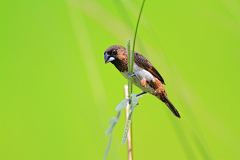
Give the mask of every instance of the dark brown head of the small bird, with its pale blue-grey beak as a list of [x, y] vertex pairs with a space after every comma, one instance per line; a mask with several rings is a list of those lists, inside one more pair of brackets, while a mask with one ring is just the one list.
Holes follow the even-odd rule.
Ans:
[[127, 58], [126, 48], [120, 45], [111, 46], [104, 52], [105, 64], [108, 62], [114, 63], [114, 61], [125, 60]]

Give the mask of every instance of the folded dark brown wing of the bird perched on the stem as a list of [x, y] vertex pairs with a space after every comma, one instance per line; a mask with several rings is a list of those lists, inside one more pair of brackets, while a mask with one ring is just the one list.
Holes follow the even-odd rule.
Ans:
[[158, 80], [165, 84], [162, 76], [158, 73], [158, 71], [153, 67], [153, 65], [140, 53], [134, 53], [134, 62], [141, 68], [150, 72], [153, 76], [155, 76]]

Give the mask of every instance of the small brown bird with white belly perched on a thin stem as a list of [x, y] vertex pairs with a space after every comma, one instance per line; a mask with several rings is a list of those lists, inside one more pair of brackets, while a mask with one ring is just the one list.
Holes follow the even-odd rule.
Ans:
[[153, 65], [140, 53], [134, 52], [133, 75], [128, 74], [128, 54], [126, 48], [120, 45], [109, 47], [104, 52], [105, 64], [111, 62], [125, 78], [132, 78], [133, 84], [145, 93], [152, 94], [164, 102], [175, 116], [180, 118], [180, 114], [169, 101], [167, 93], [163, 87], [165, 82]]

